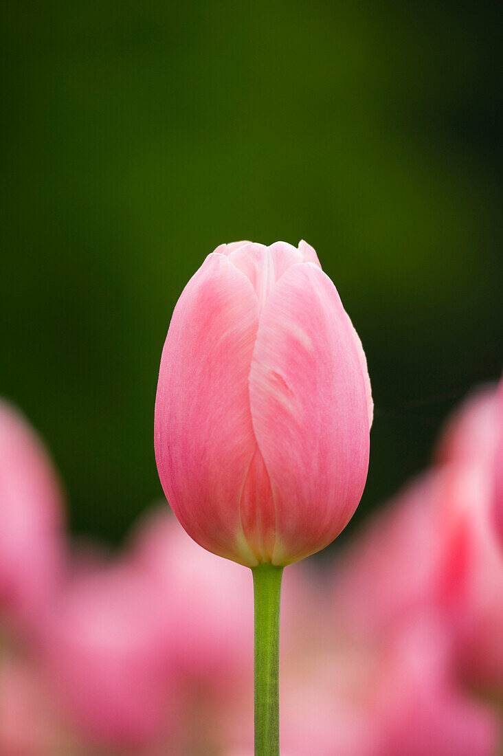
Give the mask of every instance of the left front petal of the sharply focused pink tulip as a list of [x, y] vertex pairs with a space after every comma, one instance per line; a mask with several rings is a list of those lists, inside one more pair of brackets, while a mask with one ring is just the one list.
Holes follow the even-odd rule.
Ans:
[[175, 307], [157, 386], [155, 448], [166, 497], [206, 549], [256, 564], [241, 491], [256, 450], [248, 375], [258, 323], [250, 280], [213, 254]]

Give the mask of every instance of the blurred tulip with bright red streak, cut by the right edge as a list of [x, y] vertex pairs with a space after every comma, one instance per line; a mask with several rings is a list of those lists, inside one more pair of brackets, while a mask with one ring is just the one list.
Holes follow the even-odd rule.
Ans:
[[455, 633], [458, 664], [479, 686], [503, 686], [503, 553], [492, 523], [492, 489], [480, 466], [449, 466], [439, 497], [437, 584]]

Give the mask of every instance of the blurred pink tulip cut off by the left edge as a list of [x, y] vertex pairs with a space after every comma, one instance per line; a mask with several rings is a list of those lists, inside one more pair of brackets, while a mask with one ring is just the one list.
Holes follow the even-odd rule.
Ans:
[[33, 429], [0, 402], [0, 615], [30, 624], [61, 577], [62, 496]]

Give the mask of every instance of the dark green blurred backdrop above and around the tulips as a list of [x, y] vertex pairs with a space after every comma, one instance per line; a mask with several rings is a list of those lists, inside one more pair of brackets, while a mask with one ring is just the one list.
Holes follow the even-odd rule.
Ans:
[[[223, 241], [311, 243], [368, 355], [361, 519], [501, 372], [501, 5], [8, 3], [0, 392], [119, 541], [160, 496], [175, 301]], [[352, 525], [354, 527], [354, 525]]]

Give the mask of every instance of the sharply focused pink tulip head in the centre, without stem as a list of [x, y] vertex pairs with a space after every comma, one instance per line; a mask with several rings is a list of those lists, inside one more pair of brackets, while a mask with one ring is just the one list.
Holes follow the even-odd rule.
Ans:
[[188, 534], [247, 566], [336, 538], [368, 469], [370, 382], [334, 284], [298, 249], [217, 247], [169, 326], [155, 448]]

